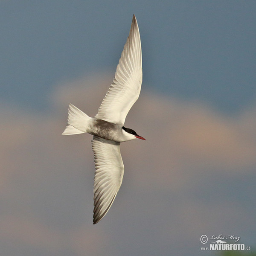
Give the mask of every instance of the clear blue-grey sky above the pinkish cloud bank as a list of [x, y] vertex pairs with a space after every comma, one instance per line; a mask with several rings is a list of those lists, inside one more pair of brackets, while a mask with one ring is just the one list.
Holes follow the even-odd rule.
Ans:
[[256, 97], [255, 1], [0, 1], [1, 101], [49, 111], [62, 81], [114, 74], [131, 17], [143, 81], [236, 113]]

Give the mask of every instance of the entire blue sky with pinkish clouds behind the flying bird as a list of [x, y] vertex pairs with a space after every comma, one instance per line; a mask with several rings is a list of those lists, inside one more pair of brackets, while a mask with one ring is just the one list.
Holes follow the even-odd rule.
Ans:
[[[256, 2], [0, 1], [0, 254], [220, 255], [255, 248]], [[125, 175], [93, 218], [91, 136], [61, 136], [71, 102], [90, 116], [132, 15], [143, 85], [122, 143]], [[209, 242], [207, 243], [209, 246]]]

